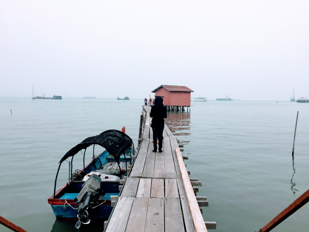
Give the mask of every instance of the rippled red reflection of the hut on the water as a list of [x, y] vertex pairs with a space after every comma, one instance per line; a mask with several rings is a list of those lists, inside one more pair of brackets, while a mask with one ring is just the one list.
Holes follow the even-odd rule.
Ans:
[[[190, 112], [167, 112], [167, 127], [179, 140], [179, 144], [188, 144], [190, 135]], [[182, 149], [182, 148], [180, 148]]]

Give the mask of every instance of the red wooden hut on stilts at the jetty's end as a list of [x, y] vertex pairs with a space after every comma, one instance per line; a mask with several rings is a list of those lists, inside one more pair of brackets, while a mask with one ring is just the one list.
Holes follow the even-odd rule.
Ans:
[[184, 110], [184, 107], [190, 106], [191, 92], [187, 86], [180, 85], [161, 85], [152, 92], [155, 96], [163, 97], [163, 104], [167, 110]]

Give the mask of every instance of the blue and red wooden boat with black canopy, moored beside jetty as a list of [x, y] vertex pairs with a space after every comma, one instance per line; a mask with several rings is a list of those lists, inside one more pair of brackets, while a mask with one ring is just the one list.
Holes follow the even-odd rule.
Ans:
[[[95, 144], [105, 149], [98, 155], [93, 152], [92, 160], [85, 165], [86, 149]], [[82, 149], [85, 149], [83, 168], [72, 173], [73, 158]], [[76, 219], [76, 228], [81, 223], [90, 223], [91, 217], [107, 219], [113, 209], [111, 197], [119, 195], [120, 179], [127, 175], [127, 165], [131, 165], [133, 152], [132, 139], [117, 130], [88, 137], [68, 151], [59, 162], [54, 193], [48, 198], [56, 218]], [[60, 166], [70, 157], [69, 181], [56, 191]]]

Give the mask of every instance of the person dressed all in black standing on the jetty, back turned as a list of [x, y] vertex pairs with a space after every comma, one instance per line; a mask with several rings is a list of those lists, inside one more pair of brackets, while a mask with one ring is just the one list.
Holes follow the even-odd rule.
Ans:
[[[162, 140], [164, 130], [164, 118], [167, 117], [166, 109], [159, 97], [155, 98], [155, 104], [152, 106], [150, 111], [150, 118], [152, 118], [152, 131], [153, 140], [159, 139], [159, 152], [162, 152]], [[157, 143], [154, 143], [153, 152], [157, 152]]]

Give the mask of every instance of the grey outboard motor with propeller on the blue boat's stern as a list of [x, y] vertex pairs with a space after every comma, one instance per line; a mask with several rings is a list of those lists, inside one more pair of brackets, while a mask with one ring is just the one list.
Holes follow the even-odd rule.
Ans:
[[92, 216], [92, 204], [95, 196], [99, 193], [101, 187], [101, 178], [92, 174], [91, 177], [83, 184], [82, 190], [79, 192], [74, 201], [79, 205], [78, 207], [78, 221], [75, 227], [78, 229], [83, 224], [89, 224]]

